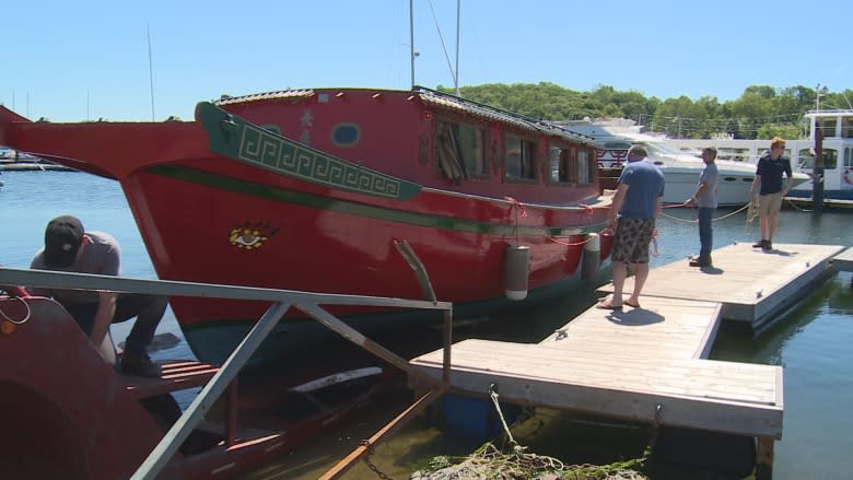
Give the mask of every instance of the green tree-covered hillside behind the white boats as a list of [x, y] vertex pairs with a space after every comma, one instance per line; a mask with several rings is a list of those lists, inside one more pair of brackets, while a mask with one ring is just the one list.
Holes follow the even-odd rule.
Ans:
[[[453, 87], [436, 90], [453, 93]], [[853, 91], [829, 92], [808, 86], [773, 87], [752, 85], [736, 99], [720, 102], [715, 96], [693, 101], [685, 95], [659, 99], [636, 91], [618, 91], [598, 85], [577, 92], [549, 82], [488, 83], [459, 87], [459, 95], [479, 103], [542, 120], [584, 118], [630, 118], [645, 131], [673, 138], [736, 139], [803, 138], [803, 114], [820, 108], [853, 108]]]

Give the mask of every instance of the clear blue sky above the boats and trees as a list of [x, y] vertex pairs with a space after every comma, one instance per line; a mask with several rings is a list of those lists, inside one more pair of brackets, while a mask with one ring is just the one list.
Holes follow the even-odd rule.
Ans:
[[[853, 89], [849, 0], [413, 0], [414, 84], [610, 85], [735, 99]], [[8, 1], [0, 103], [31, 119], [191, 119], [223, 94], [409, 89], [409, 0]], [[459, 38], [457, 60], [457, 5]]]

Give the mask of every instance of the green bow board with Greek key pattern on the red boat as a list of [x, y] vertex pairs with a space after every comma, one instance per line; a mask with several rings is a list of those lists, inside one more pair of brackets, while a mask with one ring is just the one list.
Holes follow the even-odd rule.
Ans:
[[328, 155], [304, 143], [250, 124], [209, 103], [196, 118], [210, 137], [210, 150], [280, 175], [347, 191], [407, 200], [421, 186]]

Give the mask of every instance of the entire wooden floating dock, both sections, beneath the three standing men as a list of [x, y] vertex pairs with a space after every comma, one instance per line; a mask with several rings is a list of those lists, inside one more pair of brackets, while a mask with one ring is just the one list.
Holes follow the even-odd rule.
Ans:
[[[782, 437], [782, 367], [708, 355], [723, 319], [769, 325], [834, 272], [831, 260], [843, 249], [732, 245], [713, 253], [714, 268], [687, 260], [656, 268], [640, 308], [593, 306], [535, 344], [454, 344], [451, 386], [483, 396], [495, 384], [509, 402], [757, 437], [759, 465], [769, 470]], [[629, 278], [626, 291], [632, 286]], [[411, 363], [437, 378], [442, 355]]]

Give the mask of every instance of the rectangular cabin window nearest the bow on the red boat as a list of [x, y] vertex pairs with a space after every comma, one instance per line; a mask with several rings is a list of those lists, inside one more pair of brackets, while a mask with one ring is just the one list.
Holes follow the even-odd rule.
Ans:
[[435, 157], [439, 168], [451, 180], [487, 177], [486, 131], [470, 125], [437, 122]]

